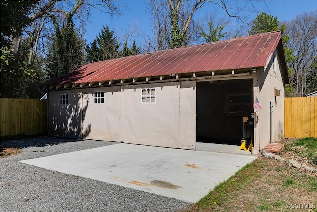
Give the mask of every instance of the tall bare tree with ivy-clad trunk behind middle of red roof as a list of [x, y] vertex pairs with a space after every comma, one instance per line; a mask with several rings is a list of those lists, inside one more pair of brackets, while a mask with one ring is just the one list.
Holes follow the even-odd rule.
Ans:
[[236, 1], [224, 0], [151, 0], [152, 31], [156, 43], [153, 45], [148, 42], [149, 47], [162, 50], [192, 44], [197, 25], [194, 14], [207, 3], [221, 7], [229, 18], [234, 18], [239, 23], [245, 23], [248, 18], [241, 15], [243, 10], [248, 10], [248, 14], [255, 11], [252, 1], [240, 1], [243, 5], [239, 6]]

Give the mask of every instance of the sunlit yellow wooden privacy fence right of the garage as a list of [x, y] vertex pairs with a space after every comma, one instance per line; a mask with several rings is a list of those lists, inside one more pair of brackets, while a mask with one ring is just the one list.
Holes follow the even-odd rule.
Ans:
[[317, 96], [285, 98], [285, 137], [317, 137]]

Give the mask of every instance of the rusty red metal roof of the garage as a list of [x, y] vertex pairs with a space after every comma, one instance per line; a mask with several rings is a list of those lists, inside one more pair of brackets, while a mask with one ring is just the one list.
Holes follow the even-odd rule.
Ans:
[[284, 58], [282, 66], [286, 69], [281, 38], [281, 32], [276, 31], [89, 63], [44, 86], [264, 67], [276, 48], [281, 48]]

